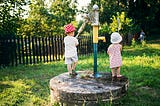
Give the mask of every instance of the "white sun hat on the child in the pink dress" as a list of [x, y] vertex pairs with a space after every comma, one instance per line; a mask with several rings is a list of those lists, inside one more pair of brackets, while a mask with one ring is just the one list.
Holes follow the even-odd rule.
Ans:
[[122, 41], [122, 36], [118, 32], [113, 32], [111, 34], [111, 43], [120, 43]]

